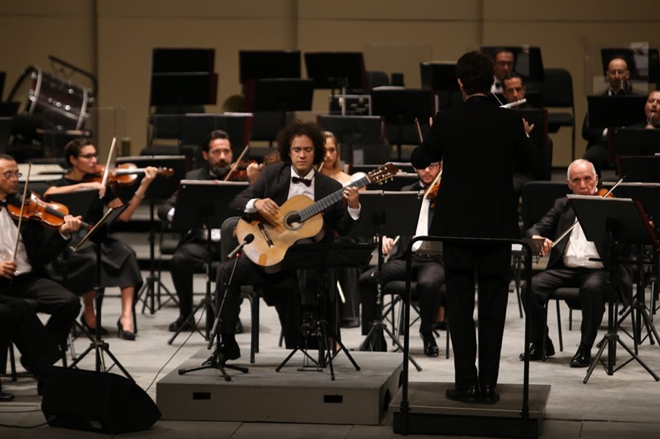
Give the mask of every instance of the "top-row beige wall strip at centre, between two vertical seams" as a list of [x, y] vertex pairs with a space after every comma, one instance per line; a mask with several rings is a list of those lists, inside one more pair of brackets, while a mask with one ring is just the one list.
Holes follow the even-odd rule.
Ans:
[[298, 0], [300, 19], [342, 20], [474, 20], [481, 16], [480, 0]]

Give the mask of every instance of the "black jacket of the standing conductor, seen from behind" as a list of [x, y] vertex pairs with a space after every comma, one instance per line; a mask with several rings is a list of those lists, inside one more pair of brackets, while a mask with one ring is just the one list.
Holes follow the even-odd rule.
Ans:
[[514, 170], [531, 165], [520, 116], [485, 96], [437, 113], [410, 161], [415, 168], [443, 160], [442, 183], [429, 232], [437, 236], [517, 238]]

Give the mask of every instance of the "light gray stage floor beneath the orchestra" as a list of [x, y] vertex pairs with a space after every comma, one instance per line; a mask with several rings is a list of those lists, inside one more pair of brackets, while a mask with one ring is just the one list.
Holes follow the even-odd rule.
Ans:
[[[146, 273], [145, 273], [146, 275]], [[164, 282], [170, 286], [170, 278], [164, 273]], [[203, 279], [196, 279], [196, 291], [203, 291]], [[109, 295], [116, 293], [114, 289]], [[551, 304], [549, 317], [550, 335], [555, 348], [559, 349], [557, 322], [554, 305]], [[569, 361], [580, 338], [580, 312], [573, 313], [573, 330], [568, 329], [568, 308], [562, 304], [562, 330], [564, 352], [557, 352], [545, 363], [531, 363], [531, 383], [551, 385], [551, 394], [547, 405], [546, 422], [542, 438], [657, 438], [660, 434], [660, 383], [652, 379], [641, 366], [632, 361], [613, 376], [608, 376], [602, 368], [596, 368], [587, 384], [582, 383], [586, 370], [569, 368]], [[141, 306], [138, 308], [138, 313]], [[248, 304], [243, 305], [241, 318], [245, 333], [237, 339], [243, 351], [243, 359], [248, 361], [250, 344], [250, 314]], [[170, 304], [151, 315], [138, 315], [139, 333], [136, 341], [124, 341], [116, 337], [116, 322], [120, 311], [119, 300], [107, 297], [104, 302], [103, 321], [109, 329], [107, 337], [110, 349], [129, 370], [138, 385], [147, 389], [155, 399], [155, 381], [205, 346], [203, 339], [193, 334], [179, 335], [172, 346], [166, 344], [170, 337], [167, 326], [177, 317], [177, 309]], [[509, 296], [507, 326], [500, 363], [500, 383], [522, 383], [522, 362], [518, 354], [522, 350], [523, 320], [518, 314], [516, 295]], [[630, 322], [626, 323], [630, 326]], [[599, 335], [604, 334], [605, 327]], [[279, 323], [274, 308], [261, 306], [261, 347], [276, 348], [279, 335]], [[411, 381], [448, 381], [453, 380], [452, 359], [444, 358], [445, 333], [438, 341], [440, 356], [428, 358], [423, 355], [421, 339], [417, 337], [417, 328], [412, 329], [411, 352], [419, 361], [423, 370], [416, 372], [410, 368]], [[362, 336], [359, 328], [342, 329], [342, 337], [349, 348], [360, 344]], [[632, 341], [622, 335], [628, 346]], [[74, 347], [80, 353], [87, 347], [87, 342], [78, 339]], [[389, 344], [391, 346], [391, 344]], [[285, 357], [282, 348], [282, 356]], [[595, 354], [595, 350], [593, 351]], [[628, 355], [617, 350], [619, 361], [624, 363]], [[651, 346], [648, 340], [639, 347], [639, 356], [650, 368], [660, 373], [660, 347]], [[88, 356], [82, 361], [83, 368], [94, 368], [94, 357]], [[20, 365], [19, 365], [20, 368]], [[162, 370], [161, 370], [162, 369]], [[113, 372], [118, 370], [113, 369]], [[28, 427], [43, 423], [40, 410], [41, 398], [36, 396], [36, 383], [25, 373], [19, 376], [17, 383], [3, 377], [3, 390], [16, 394], [13, 403], [0, 405], [0, 424]], [[0, 427], [3, 438], [34, 438], [41, 436], [53, 438], [94, 438], [107, 437], [83, 431], [55, 429], [47, 426], [36, 429], [17, 429]], [[220, 423], [220, 422], [179, 422], [159, 421], [149, 431], [126, 435], [131, 438], [179, 438], [196, 436], [202, 438], [393, 438], [399, 437], [392, 431], [391, 415], [386, 416], [379, 426], [363, 425], [292, 425], [272, 423]], [[410, 436], [415, 438], [417, 436]], [[425, 436], [420, 436], [425, 437]], [[426, 436], [428, 437], [428, 436]]]

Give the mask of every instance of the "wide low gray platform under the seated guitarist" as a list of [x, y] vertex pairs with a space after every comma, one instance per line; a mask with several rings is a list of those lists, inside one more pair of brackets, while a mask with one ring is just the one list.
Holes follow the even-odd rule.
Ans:
[[[280, 371], [275, 368], [289, 350], [262, 350], [256, 363], [232, 361], [248, 374], [228, 370], [199, 370], [179, 375], [173, 370], [158, 381], [156, 403], [167, 420], [223, 420], [245, 422], [378, 425], [399, 389], [399, 353], [351, 352], [353, 365], [341, 352], [333, 360], [335, 381], [327, 368], [303, 371], [303, 354], [296, 352]], [[210, 354], [201, 349], [181, 368], [201, 365]], [[313, 356], [316, 351], [310, 351]]]

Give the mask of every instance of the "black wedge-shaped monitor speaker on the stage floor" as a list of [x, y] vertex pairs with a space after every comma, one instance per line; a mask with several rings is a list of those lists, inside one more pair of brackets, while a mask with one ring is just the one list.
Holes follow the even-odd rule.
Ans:
[[52, 427], [121, 434], [150, 428], [161, 414], [135, 382], [117, 374], [50, 368], [41, 410]]

